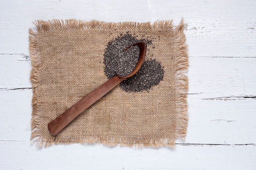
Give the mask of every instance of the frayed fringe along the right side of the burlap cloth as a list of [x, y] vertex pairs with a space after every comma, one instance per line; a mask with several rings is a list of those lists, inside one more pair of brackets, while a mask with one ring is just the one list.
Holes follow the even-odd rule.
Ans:
[[186, 129], [188, 124], [188, 107], [187, 107], [187, 91], [189, 86], [188, 77], [185, 75], [188, 67], [188, 53], [187, 45], [185, 44], [186, 38], [184, 34], [184, 22], [183, 18], [180, 24], [174, 29], [175, 46], [177, 51], [175, 52], [175, 88], [176, 88], [176, 109], [177, 109], [177, 121], [176, 121], [176, 137], [185, 139]]

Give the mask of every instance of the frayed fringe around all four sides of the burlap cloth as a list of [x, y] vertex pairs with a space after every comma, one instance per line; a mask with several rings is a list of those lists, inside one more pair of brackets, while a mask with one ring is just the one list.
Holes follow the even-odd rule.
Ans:
[[[31, 119], [31, 140], [36, 143], [36, 146], [50, 146], [52, 144], [72, 144], [72, 143], [102, 143], [109, 146], [135, 146], [135, 147], [160, 147], [169, 146], [174, 147], [176, 137], [184, 139], [187, 127], [187, 104], [186, 92], [188, 89], [188, 77], [184, 75], [184, 71], [188, 68], [188, 55], [187, 45], [185, 44], [185, 35], [183, 32], [184, 22], [183, 19], [178, 26], [173, 28], [172, 20], [157, 21], [152, 25], [150, 22], [103, 22], [92, 20], [85, 22], [83, 20], [37, 20], [34, 22], [37, 30], [29, 29], [29, 51], [31, 58], [31, 75], [30, 80], [32, 83], [33, 97], [32, 97], [32, 119]], [[115, 136], [90, 136], [90, 137], [42, 137], [40, 134], [42, 118], [40, 117], [40, 103], [38, 96], [38, 89], [40, 88], [39, 66], [40, 66], [40, 53], [37, 50], [37, 33], [41, 31], [68, 31], [68, 30], [170, 30], [173, 29], [175, 35], [174, 46], [175, 54], [175, 88], [176, 88], [176, 108], [177, 108], [177, 122], [176, 122], [176, 137], [169, 138], [132, 138], [132, 137], [115, 137]]]

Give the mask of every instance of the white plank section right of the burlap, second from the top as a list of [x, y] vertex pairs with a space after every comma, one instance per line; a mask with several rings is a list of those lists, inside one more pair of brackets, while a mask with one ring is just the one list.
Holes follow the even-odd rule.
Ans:
[[189, 58], [189, 92], [202, 98], [256, 96], [256, 58]]

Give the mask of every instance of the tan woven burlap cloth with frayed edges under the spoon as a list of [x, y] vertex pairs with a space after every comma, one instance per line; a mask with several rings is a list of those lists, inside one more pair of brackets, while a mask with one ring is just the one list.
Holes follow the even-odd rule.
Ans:
[[[33, 89], [31, 139], [38, 146], [103, 143], [110, 146], [174, 146], [187, 126], [187, 47], [183, 21], [109, 23], [38, 20], [29, 30]], [[103, 64], [108, 42], [129, 31], [152, 40], [146, 59], [164, 69], [160, 84], [148, 91], [125, 92], [117, 85], [56, 136], [47, 124], [106, 82]]]

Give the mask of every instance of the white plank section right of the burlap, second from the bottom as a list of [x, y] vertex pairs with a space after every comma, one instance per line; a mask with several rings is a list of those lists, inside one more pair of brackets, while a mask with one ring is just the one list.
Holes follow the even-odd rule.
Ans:
[[186, 143], [256, 143], [256, 98], [203, 99], [200, 96], [188, 97]]

